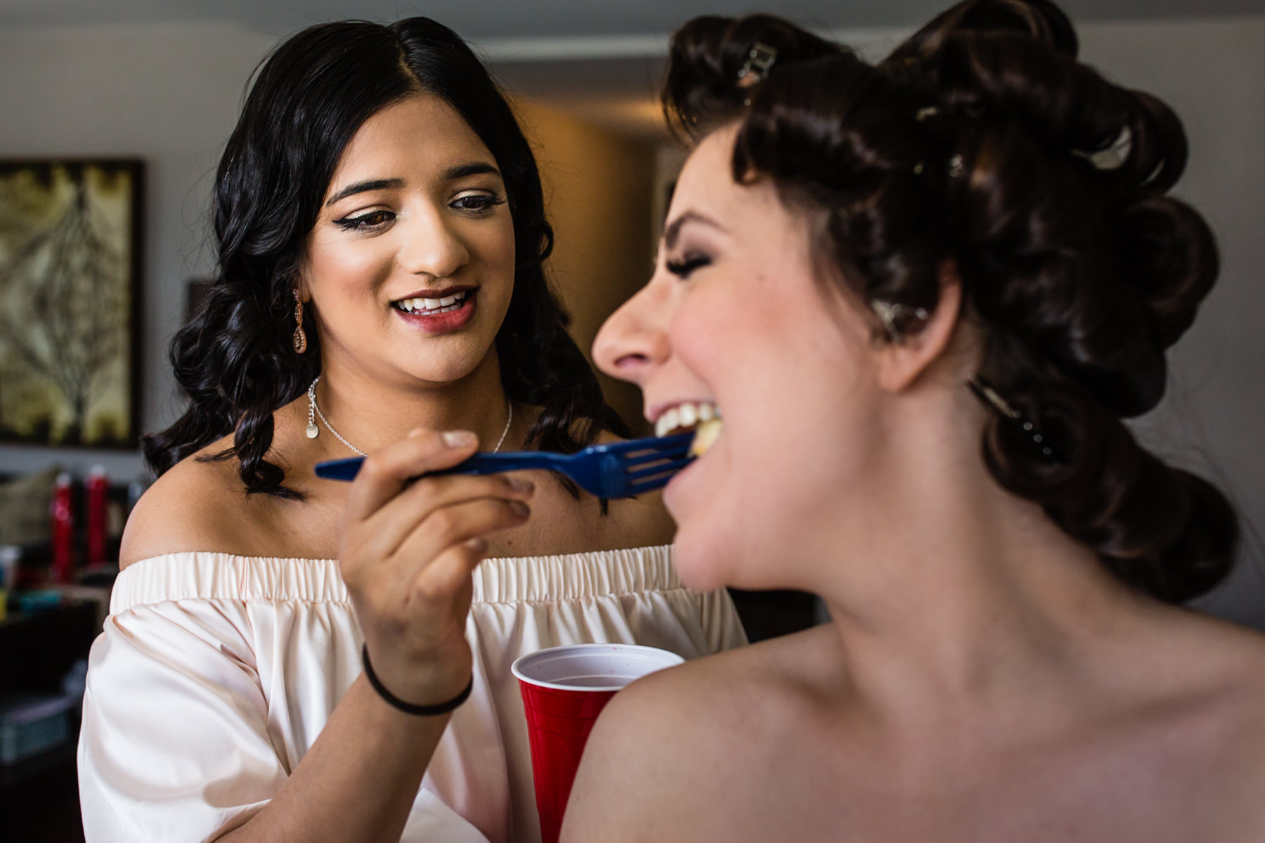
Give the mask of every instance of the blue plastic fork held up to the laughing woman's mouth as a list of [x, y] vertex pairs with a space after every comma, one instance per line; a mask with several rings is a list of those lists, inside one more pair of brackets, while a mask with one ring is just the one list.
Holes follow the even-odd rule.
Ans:
[[[423, 476], [443, 474], [496, 474], [522, 469], [548, 469], [565, 474], [581, 488], [600, 498], [630, 498], [658, 489], [688, 465], [693, 432], [674, 436], [650, 436], [626, 442], [589, 445], [574, 454], [552, 451], [510, 451], [476, 454], [463, 463]], [[326, 480], [350, 480], [361, 470], [363, 456], [329, 460], [316, 464], [316, 476]]]

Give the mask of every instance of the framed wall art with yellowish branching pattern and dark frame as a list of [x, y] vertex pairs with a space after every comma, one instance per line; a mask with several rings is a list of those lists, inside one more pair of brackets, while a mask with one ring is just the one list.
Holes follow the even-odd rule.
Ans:
[[0, 442], [135, 447], [139, 161], [0, 161]]

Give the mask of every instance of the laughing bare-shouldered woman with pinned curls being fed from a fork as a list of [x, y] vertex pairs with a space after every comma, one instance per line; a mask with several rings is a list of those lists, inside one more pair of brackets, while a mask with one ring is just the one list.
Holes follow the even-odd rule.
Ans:
[[878, 64], [767, 15], [673, 37], [692, 152], [595, 359], [715, 418], [664, 493], [682, 579], [831, 622], [620, 694], [564, 840], [1265, 833], [1265, 642], [1180, 607], [1237, 518], [1122, 421], [1216, 245], [1176, 115], [1077, 52], [1044, 0]]

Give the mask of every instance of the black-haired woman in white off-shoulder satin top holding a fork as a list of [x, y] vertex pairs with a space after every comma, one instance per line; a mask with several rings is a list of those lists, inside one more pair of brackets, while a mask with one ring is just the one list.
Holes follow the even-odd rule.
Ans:
[[[530, 147], [425, 18], [282, 43], [224, 150], [80, 741], [89, 840], [531, 839], [524, 652], [743, 642], [657, 497], [415, 479], [624, 432], [543, 268]], [[348, 485], [314, 465], [367, 452]]]

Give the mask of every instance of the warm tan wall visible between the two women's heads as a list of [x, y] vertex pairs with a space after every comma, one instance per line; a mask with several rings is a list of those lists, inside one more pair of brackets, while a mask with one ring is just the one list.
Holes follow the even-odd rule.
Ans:
[[[550, 279], [584, 354], [602, 321], [650, 277], [655, 150], [531, 100], [515, 102], [554, 226]], [[602, 375], [611, 404], [641, 420], [640, 393]]]

